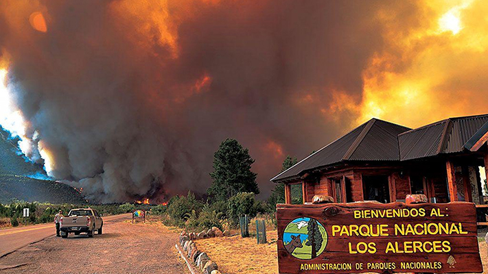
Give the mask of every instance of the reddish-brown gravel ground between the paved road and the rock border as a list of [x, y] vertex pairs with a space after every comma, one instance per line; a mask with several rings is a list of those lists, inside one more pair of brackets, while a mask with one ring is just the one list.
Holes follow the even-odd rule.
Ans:
[[51, 237], [0, 258], [0, 273], [189, 273], [160, 222], [114, 221], [104, 234]]

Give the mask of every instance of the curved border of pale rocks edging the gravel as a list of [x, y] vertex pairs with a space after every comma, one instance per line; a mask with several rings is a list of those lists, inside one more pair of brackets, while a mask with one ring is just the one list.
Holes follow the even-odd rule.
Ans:
[[[183, 230], [178, 238], [178, 244], [180, 247], [183, 247], [183, 251], [178, 251], [180, 251], [181, 256], [185, 262], [187, 262], [189, 268], [191, 267], [189, 262], [191, 262], [191, 264], [196, 265], [197, 269], [202, 271], [204, 274], [222, 274], [218, 270], [218, 265], [210, 259], [207, 253], [199, 251], [196, 248], [196, 243], [194, 240], [224, 237], [229, 235], [230, 232], [228, 230], [224, 230], [224, 232], [222, 232], [220, 229], [218, 229], [218, 227], [212, 227], [211, 229], [207, 231], [204, 230], [198, 234], [195, 232], [187, 233]], [[180, 249], [178, 245], [176, 245], [176, 248]], [[194, 273], [192, 269], [190, 269], [190, 271], [191, 273]]]

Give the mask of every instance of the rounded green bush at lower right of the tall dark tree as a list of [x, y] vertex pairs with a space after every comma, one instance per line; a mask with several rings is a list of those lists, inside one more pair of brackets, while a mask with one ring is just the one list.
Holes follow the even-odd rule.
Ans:
[[249, 219], [256, 216], [259, 210], [257, 206], [255, 195], [253, 192], [240, 192], [229, 199], [229, 210], [227, 217], [232, 226], [239, 224], [239, 217], [248, 215]]

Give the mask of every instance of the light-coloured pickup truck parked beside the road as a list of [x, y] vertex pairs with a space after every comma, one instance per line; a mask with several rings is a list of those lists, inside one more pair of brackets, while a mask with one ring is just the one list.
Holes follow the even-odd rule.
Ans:
[[102, 234], [104, 221], [96, 210], [91, 208], [76, 208], [69, 210], [68, 216], [60, 219], [60, 234], [62, 238], [68, 238], [70, 233], [80, 235], [86, 233], [89, 238], [93, 237], [95, 231]]

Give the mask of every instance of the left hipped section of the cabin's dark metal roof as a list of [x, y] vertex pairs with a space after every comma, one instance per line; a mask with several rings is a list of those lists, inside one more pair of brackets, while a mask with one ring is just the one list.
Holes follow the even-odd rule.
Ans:
[[401, 125], [371, 119], [271, 180], [297, 177], [306, 171], [347, 160], [399, 160], [397, 135], [408, 129]]

